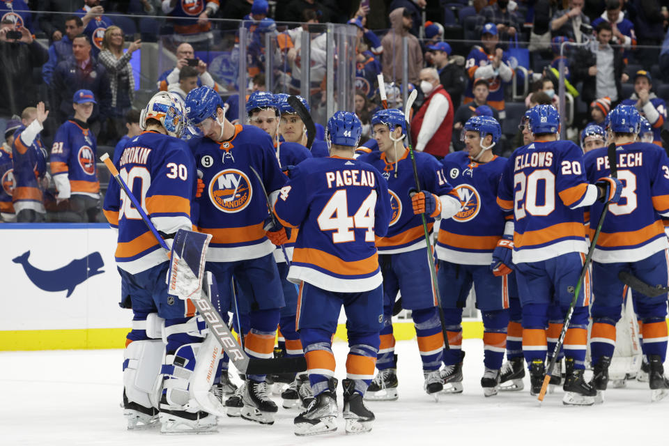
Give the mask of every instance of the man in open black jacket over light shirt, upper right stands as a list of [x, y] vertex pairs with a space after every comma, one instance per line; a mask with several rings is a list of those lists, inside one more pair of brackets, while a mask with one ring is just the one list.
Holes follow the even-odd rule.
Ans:
[[604, 96], [611, 98], [612, 105], [617, 104], [622, 99], [622, 82], [629, 79], [624, 72], [622, 49], [609, 45], [613, 36], [610, 23], [601, 22], [595, 33], [597, 40], [576, 52], [572, 72], [576, 79], [583, 80], [581, 97], [586, 104]]

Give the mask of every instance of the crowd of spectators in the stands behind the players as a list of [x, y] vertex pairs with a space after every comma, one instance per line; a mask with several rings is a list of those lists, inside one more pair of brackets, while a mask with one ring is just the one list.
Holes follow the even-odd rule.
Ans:
[[[302, 91], [305, 32], [308, 100], [322, 117], [328, 40], [321, 24], [330, 22], [355, 29], [355, 112], [369, 150], [380, 74], [390, 107], [403, 109], [403, 85], [417, 89], [413, 141], [436, 156], [462, 150], [463, 123], [474, 115], [500, 121], [503, 137], [493, 151], [509, 155], [522, 145], [525, 110], [537, 104], [557, 107], [567, 118], [566, 136], [579, 144], [586, 125], [604, 127], [615, 105], [635, 105], [661, 144], [668, 6], [669, 0], [0, 0], [0, 220], [98, 221], [98, 144], [112, 151], [139, 132], [144, 104], [130, 61], [143, 43], [159, 39], [176, 63], [150, 79], [153, 91], [185, 98], [196, 86], [211, 86], [233, 122], [252, 91]], [[241, 91], [202, 56], [240, 45], [240, 26], [252, 79]], [[274, 58], [274, 72], [264, 72], [266, 57]]]

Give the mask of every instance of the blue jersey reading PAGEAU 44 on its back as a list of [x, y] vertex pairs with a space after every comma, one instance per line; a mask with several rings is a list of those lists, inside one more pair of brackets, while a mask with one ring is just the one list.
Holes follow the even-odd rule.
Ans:
[[344, 293], [381, 284], [374, 240], [390, 222], [385, 183], [374, 167], [349, 158], [314, 158], [293, 170], [275, 203], [282, 224], [300, 229], [291, 282]]

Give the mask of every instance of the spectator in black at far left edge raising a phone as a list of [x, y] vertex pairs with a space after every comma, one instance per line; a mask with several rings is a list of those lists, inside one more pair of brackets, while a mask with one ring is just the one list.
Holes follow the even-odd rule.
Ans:
[[[10, 31], [18, 31], [20, 39], [7, 38]], [[23, 109], [35, 104], [38, 86], [33, 79], [33, 68], [47, 61], [47, 51], [30, 31], [5, 18], [0, 22], [0, 120], [5, 121]], [[3, 124], [3, 123], [1, 123]], [[1, 125], [4, 128], [4, 125]]]

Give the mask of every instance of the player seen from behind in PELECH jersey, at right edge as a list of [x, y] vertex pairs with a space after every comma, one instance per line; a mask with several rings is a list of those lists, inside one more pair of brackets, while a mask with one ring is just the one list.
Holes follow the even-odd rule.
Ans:
[[[647, 284], [667, 286], [669, 243], [661, 217], [669, 217], [669, 158], [654, 144], [636, 142], [641, 116], [632, 105], [618, 105], [611, 112], [609, 131], [616, 145], [617, 175], [624, 187], [621, 200], [608, 207], [597, 245], [592, 254], [592, 332], [590, 350], [598, 400], [608, 384], [608, 368], [615, 349], [615, 324], [622, 314], [627, 287], [618, 280], [622, 270]], [[585, 156], [588, 180], [610, 174], [606, 149]], [[601, 203], [590, 207], [597, 218]], [[591, 228], [590, 233], [594, 233]], [[632, 291], [635, 310], [642, 322], [643, 354], [650, 371], [652, 401], [669, 395], [664, 376], [667, 353], [667, 294], [650, 298]]]

